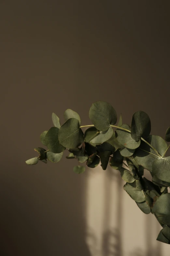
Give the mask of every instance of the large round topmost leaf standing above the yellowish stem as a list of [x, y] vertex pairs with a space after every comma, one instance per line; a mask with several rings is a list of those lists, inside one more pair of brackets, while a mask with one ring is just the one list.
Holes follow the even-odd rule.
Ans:
[[89, 117], [93, 125], [100, 131], [106, 131], [117, 122], [115, 109], [107, 102], [97, 101], [92, 104]]

